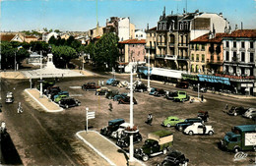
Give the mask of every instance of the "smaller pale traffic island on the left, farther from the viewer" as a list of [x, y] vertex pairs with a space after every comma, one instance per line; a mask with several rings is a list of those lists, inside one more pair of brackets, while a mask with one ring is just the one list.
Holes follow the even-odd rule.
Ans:
[[58, 104], [49, 100], [45, 95], [40, 98], [40, 92], [36, 88], [27, 88], [25, 91], [37, 102], [46, 112], [60, 112], [63, 108], [60, 108]]

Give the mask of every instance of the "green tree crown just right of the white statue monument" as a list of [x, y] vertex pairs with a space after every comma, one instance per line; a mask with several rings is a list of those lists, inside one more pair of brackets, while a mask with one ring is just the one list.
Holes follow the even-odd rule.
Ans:
[[52, 46], [53, 63], [58, 68], [67, 68], [71, 59], [77, 58], [77, 52], [70, 46]]

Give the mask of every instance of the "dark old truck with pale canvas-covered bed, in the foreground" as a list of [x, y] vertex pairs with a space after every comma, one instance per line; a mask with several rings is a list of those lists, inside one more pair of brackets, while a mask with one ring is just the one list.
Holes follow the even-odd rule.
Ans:
[[134, 156], [143, 161], [148, 161], [150, 157], [166, 154], [173, 144], [173, 134], [169, 131], [158, 131], [148, 135], [144, 145], [136, 148]]

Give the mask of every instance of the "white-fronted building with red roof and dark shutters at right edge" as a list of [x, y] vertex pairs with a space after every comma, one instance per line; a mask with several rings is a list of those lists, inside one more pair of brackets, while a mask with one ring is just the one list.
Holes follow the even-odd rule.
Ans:
[[241, 93], [256, 94], [256, 29], [237, 29], [223, 39], [224, 77]]

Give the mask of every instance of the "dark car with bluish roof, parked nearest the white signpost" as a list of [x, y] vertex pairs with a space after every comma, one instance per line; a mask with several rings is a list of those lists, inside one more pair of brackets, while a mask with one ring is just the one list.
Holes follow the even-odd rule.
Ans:
[[112, 132], [115, 132], [119, 128], [119, 126], [124, 122], [125, 121], [123, 119], [114, 119], [114, 120], [108, 121], [108, 126], [100, 129], [100, 134], [103, 136], [110, 136]]

